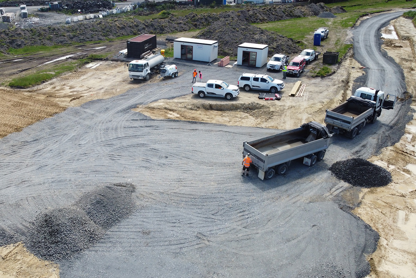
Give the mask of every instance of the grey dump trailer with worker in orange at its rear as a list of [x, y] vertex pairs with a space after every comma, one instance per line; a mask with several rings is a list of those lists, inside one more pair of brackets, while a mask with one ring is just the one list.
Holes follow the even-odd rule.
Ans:
[[317, 122], [251, 142], [243, 143], [243, 156], [250, 153], [252, 167], [260, 179], [271, 179], [275, 173], [284, 175], [290, 162], [303, 157], [303, 164], [313, 166], [324, 158], [331, 134]]

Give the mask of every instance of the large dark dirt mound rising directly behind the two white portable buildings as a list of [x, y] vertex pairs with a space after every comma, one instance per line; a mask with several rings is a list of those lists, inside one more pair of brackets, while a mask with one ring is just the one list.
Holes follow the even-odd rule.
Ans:
[[268, 55], [275, 53], [299, 53], [300, 47], [295, 41], [250, 25], [248, 22], [233, 19], [221, 19], [217, 24], [210, 25], [196, 38], [218, 40], [218, 55], [237, 56], [238, 45], [241, 43], [260, 43], [269, 45]]

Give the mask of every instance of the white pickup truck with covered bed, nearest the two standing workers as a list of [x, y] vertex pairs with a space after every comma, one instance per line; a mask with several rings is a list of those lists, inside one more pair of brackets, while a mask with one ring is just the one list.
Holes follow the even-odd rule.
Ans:
[[192, 93], [198, 94], [200, 98], [206, 95], [210, 97], [226, 98], [232, 100], [240, 93], [235, 85], [229, 85], [222, 80], [208, 80], [207, 83], [196, 82], [192, 86]]

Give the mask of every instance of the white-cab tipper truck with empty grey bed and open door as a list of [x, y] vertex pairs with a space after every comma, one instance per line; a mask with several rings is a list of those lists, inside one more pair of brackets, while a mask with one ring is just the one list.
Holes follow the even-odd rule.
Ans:
[[358, 88], [346, 102], [327, 109], [324, 122], [332, 133], [341, 133], [354, 139], [366, 123], [374, 123], [381, 115], [381, 109], [390, 110], [396, 103], [395, 95], [385, 95], [373, 88]]

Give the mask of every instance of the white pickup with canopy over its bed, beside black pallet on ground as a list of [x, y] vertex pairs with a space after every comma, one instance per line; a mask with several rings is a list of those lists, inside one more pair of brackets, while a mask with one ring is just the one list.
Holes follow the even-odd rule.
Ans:
[[285, 88], [285, 83], [282, 80], [274, 79], [266, 74], [243, 73], [238, 78], [237, 85], [244, 88], [245, 91], [266, 90], [275, 94]]

